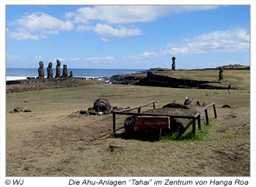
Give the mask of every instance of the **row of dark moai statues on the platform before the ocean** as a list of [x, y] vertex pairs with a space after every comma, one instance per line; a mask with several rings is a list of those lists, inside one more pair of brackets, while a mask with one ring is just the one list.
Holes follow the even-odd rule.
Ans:
[[[47, 66], [47, 79], [52, 79], [54, 78], [54, 73], [53, 73], [53, 63], [49, 63]], [[61, 61], [59, 59], [57, 59], [57, 65], [56, 65], [56, 76], [55, 78], [59, 78], [59, 77], [67, 77], [67, 65], [64, 64], [63, 65], [63, 72], [62, 72], [62, 76], [61, 76]], [[73, 78], [73, 72], [70, 72], [70, 76], [71, 78]], [[43, 61], [39, 62], [39, 68], [38, 68], [38, 77], [37, 78], [44, 78], [44, 70], [43, 70]]]

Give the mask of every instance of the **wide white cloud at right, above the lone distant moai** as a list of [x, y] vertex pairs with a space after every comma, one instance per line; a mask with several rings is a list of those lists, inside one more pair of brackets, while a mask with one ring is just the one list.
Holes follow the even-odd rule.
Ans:
[[245, 52], [250, 48], [250, 34], [244, 29], [214, 31], [186, 39], [182, 47], [166, 49], [163, 54], [202, 54]]

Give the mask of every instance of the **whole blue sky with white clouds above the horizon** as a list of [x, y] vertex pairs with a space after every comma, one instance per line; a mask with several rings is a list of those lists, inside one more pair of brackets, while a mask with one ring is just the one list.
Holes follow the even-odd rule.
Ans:
[[249, 5], [7, 5], [6, 67], [250, 65]]

